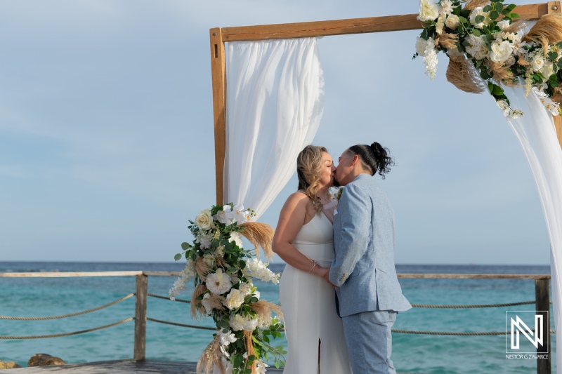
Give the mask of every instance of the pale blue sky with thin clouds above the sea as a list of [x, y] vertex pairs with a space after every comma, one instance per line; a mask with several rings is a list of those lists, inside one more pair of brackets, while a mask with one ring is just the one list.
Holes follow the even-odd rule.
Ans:
[[[532, 4], [535, 1], [518, 1]], [[212, 4], [212, 5], [211, 5]], [[209, 29], [417, 13], [407, 1], [0, 0], [0, 260], [171, 261], [214, 201]], [[419, 32], [320, 39], [334, 159], [378, 141], [396, 262], [548, 264], [532, 175], [488, 95]], [[266, 211], [275, 227], [293, 178]]]

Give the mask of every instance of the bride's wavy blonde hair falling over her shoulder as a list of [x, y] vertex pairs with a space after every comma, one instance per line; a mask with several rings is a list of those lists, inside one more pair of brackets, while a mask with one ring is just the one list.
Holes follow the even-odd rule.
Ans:
[[313, 203], [316, 213], [322, 211], [322, 203], [316, 195], [320, 189], [320, 171], [322, 170], [322, 153], [326, 147], [307, 145], [296, 158], [296, 175], [299, 177], [299, 190], [302, 190]]

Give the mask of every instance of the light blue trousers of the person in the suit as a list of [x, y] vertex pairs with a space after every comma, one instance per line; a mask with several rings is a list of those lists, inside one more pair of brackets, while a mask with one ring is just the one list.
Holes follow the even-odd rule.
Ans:
[[396, 374], [391, 361], [397, 312], [381, 310], [344, 316], [344, 335], [353, 373]]

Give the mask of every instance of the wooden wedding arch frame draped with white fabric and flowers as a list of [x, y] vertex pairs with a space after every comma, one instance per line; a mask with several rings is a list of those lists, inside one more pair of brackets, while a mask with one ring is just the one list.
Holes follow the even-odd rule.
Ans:
[[[514, 10], [526, 20], [537, 20], [542, 15], [561, 13], [561, 1], [518, 6]], [[318, 22], [283, 23], [242, 27], [216, 27], [210, 29], [211, 74], [213, 79], [213, 111], [215, 131], [216, 203], [222, 205], [224, 187], [224, 161], [226, 152], [226, 59], [224, 44], [227, 41], [257, 41], [267, 39], [308, 38], [370, 32], [422, 29], [417, 14], [389, 15], [372, 18], [353, 18]], [[413, 43], [413, 42], [412, 42]], [[556, 101], [561, 102], [562, 95]], [[562, 116], [554, 116], [558, 142], [562, 146]]]

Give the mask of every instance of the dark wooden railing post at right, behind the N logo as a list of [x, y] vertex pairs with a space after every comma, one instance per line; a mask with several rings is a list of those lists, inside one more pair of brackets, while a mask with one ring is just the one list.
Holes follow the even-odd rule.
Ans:
[[[537, 359], [537, 374], [551, 374], [551, 351], [550, 351], [550, 280], [549, 279], [535, 279], [535, 306], [536, 313], [542, 314], [542, 332], [544, 345], [539, 345], [537, 348], [537, 355], [544, 356], [545, 347], [546, 359]], [[538, 333], [538, 326], [535, 326], [535, 333]]]

